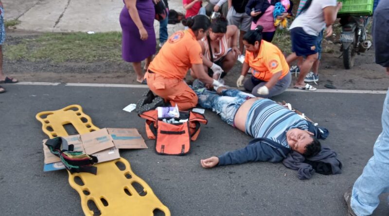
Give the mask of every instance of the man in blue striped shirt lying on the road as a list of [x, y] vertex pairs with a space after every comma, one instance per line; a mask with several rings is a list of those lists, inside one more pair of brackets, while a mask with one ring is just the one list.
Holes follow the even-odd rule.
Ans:
[[212, 109], [223, 121], [254, 137], [245, 148], [229, 151], [218, 157], [201, 160], [201, 166], [212, 168], [247, 162], [283, 162], [299, 170], [300, 179], [309, 179], [315, 172], [338, 174], [341, 163], [336, 153], [322, 148], [318, 139], [325, 139], [328, 130], [273, 100], [256, 98], [237, 89], [218, 87], [209, 91], [198, 80], [193, 83], [198, 105]]

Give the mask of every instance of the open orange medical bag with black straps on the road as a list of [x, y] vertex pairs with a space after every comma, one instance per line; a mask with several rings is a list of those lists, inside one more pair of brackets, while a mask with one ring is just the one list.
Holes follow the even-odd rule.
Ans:
[[150, 110], [139, 114], [146, 119], [145, 128], [147, 137], [155, 139], [155, 150], [158, 154], [184, 155], [190, 150], [191, 141], [195, 141], [200, 133], [200, 123], [207, 124], [204, 115], [192, 111], [179, 111], [179, 119], [188, 119], [185, 122], [167, 123], [158, 119], [157, 110]]

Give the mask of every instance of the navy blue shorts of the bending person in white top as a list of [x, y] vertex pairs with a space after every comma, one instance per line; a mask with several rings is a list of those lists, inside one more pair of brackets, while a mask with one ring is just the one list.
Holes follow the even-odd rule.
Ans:
[[296, 52], [297, 56], [308, 56], [318, 53], [318, 36], [305, 33], [301, 27], [291, 29], [290, 36], [292, 39], [292, 52]]

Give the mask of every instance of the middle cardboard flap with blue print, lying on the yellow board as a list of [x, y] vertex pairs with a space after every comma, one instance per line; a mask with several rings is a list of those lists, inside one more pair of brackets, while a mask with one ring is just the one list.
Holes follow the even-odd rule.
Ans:
[[90, 133], [84, 133], [80, 136], [87, 154], [93, 154], [115, 147], [111, 136], [108, 134], [105, 128]]

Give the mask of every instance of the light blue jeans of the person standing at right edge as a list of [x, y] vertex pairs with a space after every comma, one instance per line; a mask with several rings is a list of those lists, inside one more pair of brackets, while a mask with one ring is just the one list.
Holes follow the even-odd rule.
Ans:
[[389, 91], [384, 102], [381, 122], [382, 133], [375, 141], [374, 155], [353, 187], [351, 207], [358, 216], [371, 215], [380, 202], [378, 196], [389, 192]]

